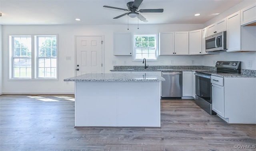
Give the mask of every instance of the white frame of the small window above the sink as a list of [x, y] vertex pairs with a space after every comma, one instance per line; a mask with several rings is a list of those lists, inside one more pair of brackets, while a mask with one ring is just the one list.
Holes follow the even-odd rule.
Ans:
[[[146, 37], [150, 37], [150, 35], [152, 36], [155, 36], [155, 57], [156, 59], [147, 59], [147, 61], [158, 61], [158, 56], [159, 56], [159, 53], [158, 53], [158, 42], [159, 42], [159, 39], [158, 39], [158, 33], [145, 33], [145, 34], [140, 34], [140, 33], [136, 33], [136, 34], [133, 34], [132, 35], [132, 43], [133, 43], [133, 47], [132, 47], [132, 61], [143, 61], [143, 58], [142, 59], [136, 59], [136, 41], [135, 41], [135, 37], [136, 36], [146, 36]], [[148, 48], [148, 47], [147, 47]]]

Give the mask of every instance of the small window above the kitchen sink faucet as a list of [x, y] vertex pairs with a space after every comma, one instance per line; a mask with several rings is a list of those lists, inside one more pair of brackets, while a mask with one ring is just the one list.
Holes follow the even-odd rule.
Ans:
[[157, 51], [157, 35], [134, 35], [134, 52], [133, 60], [142, 61], [147, 60], [156, 61], [158, 58]]

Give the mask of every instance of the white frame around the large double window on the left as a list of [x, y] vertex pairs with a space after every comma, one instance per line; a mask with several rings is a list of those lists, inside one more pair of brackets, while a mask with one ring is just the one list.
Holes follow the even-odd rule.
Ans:
[[[31, 78], [23, 78], [18, 77], [14, 78], [14, 64], [13, 64], [13, 45], [14, 41], [12, 41], [13, 37], [31, 37]], [[37, 40], [36, 37], [48, 37], [48, 36], [56, 36], [56, 77], [38, 77], [38, 59], [37, 59]], [[59, 76], [59, 67], [58, 67], [58, 34], [11, 34], [8, 35], [8, 43], [9, 43], [9, 79], [8, 80], [58, 80]]]

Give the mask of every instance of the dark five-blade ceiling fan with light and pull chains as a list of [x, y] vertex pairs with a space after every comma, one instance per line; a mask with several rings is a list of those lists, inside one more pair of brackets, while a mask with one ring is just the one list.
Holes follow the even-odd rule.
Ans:
[[131, 18], [135, 18], [137, 17], [138, 19], [140, 19], [141, 21], [146, 20], [146, 18], [144, 18], [140, 13], [162, 13], [164, 12], [164, 9], [142, 9], [142, 10], [138, 10], [140, 4], [142, 3], [143, 0], [134, 0], [134, 2], [128, 2], [127, 3], [127, 7], [128, 9], [123, 9], [123, 8], [117, 8], [117, 7], [112, 7], [112, 6], [103, 6], [106, 8], [113, 8], [113, 9], [118, 9], [118, 10], [125, 10], [125, 11], [130, 11], [128, 13], [124, 13], [122, 15], [116, 16], [113, 19], [117, 19], [120, 18], [122, 16], [128, 15]]

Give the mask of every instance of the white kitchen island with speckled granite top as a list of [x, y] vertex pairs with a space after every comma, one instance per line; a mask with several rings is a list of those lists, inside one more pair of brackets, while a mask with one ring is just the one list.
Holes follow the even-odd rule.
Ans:
[[75, 127], [160, 127], [162, 76], [84, 74], [75, 82]]

